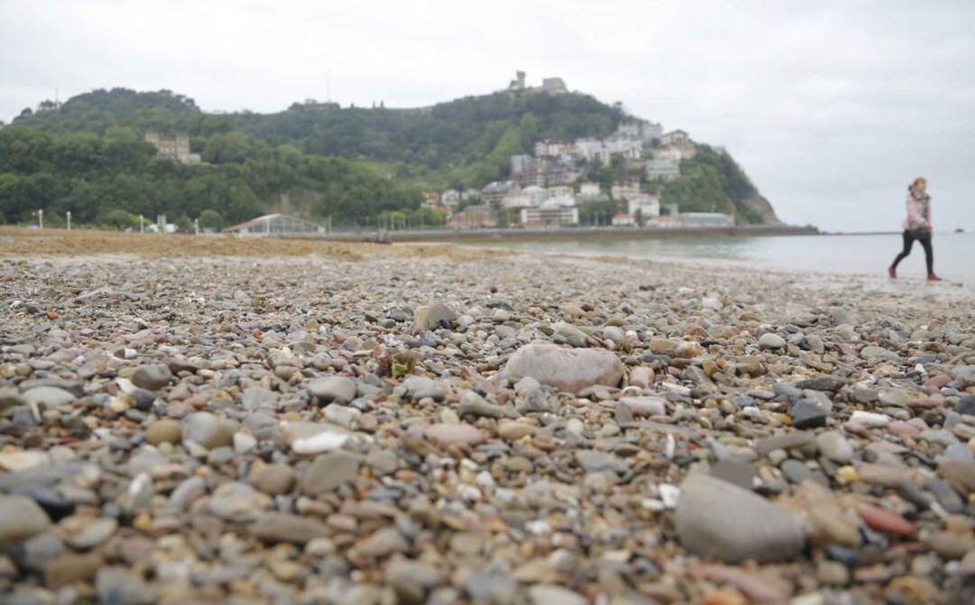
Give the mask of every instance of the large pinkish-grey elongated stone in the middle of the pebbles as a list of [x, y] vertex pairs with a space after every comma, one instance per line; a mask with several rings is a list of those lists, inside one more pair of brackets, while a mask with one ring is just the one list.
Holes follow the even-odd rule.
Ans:
[[595, 384], [617, 386], [623, 378], [623, 364], [602, 348], [564, 348], [555, 344], [531, 343], [508, 359], [507, 378], [531, 377], [559, 390], [577, 393]]

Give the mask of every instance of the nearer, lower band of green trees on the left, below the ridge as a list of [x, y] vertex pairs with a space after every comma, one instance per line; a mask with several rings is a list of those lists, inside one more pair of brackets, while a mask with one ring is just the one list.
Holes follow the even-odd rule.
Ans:
[[[214, 162], [179, 164], [155, 158], [155, 148], [132, 127], [58, 135], [15, 125], [0, 130], [0, 222], [64, 220], [119, 227], [141, 214], [166, 214], [185, 224], [205, 211], [219, 227], [277, 209], [336, 224], [364, 224], [382, 213], [420, 209], [418, 189], [344, 158], [302, 153], [247, 140], [233, 154], [238, 133], [216, 135]], [[243, 136], [241, 136], [243, 138]], [[418, 217], [417, 217], [418, 218]], [[429, 223], [436, 217], [425, 217]]]

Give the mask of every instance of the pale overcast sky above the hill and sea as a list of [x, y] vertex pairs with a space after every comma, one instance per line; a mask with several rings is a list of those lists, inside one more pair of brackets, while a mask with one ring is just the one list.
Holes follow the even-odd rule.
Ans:
[[[562, 76], [724, 145], [786, 222], [975, 229], [975, 2], [0, 0], [0, 119], [96, 88], [426, 105]], [[331, 85], [331, 86], [330, 86]]]

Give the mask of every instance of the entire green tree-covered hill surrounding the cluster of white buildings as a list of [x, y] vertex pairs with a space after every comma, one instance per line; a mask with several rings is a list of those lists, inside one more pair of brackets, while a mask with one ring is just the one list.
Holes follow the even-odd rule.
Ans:
[[[535, 141], [602, 138], [635, 119], [619, 104], [580, 94], [496, 93], [418, 109], [295, 103], [277, 113], [217, 114], [170, 91], [98, 90], [61, 105], [44, 101], [0, 130], [0, 220], [24, 221], [38, 208], [71, 210], [78, 222], [123, 223], [120, 211], [188, 219], [211, 210], [237, 222], [287, 210], [374, 224], [384, 213], [429, 214], [420, 210], [421, 189], [506, 178], [511, 155], [530, 152]], [[155, 159], [142, 140], [148, 130], [188, 133], [203, 162]], [[761, 222], [745, 203], [757, 192], [733, 160], [704, 155], [667, 185], [665, 201]]]

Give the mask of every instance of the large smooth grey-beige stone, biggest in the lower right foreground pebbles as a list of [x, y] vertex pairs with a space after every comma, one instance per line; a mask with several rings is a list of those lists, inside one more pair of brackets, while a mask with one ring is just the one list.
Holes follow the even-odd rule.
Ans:
[[704, 474], [683, 481], [676, 520], [687, 550], [727, 563], [783, 561], [805, 544], [800, 521], [787, 508]]

